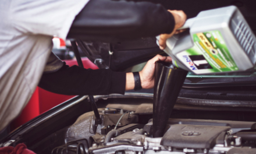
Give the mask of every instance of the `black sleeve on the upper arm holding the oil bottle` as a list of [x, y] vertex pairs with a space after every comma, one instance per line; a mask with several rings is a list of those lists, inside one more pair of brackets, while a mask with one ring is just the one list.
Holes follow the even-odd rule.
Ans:
[[150, 2], [90, 0], [76, 16], [68, 38], [109, 41], [173, 31], [175, 20], [162, 5]]

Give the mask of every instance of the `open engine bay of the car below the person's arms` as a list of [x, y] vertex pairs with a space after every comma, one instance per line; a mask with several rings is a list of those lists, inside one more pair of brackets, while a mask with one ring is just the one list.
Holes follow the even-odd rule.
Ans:
[[[24, 143], [38, 154], [255, 153], [253, 101], [206, 102], [179, 97], [163, 135], [153, 138], [153, 94], [94, 99], [102, 120], [97, 127], [89, 98], [77, 96], [13, 131], [0, 146]], [[211, 105], [210, 101], [218, 103]]]

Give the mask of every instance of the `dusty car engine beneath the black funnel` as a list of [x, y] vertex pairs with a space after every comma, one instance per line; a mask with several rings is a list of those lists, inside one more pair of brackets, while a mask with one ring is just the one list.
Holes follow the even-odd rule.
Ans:
[[[152, 104], [141, 105], [152, 111]], [[140, 107], [98, 111], [102, 124], [94, 128], [94, 113], [84, 113], [66, 129], [66, 144], [52, 153], [256, 153], [255, 122], [170, 118], [163, 137], [152, 138], [152, 119], [138, 123]]]

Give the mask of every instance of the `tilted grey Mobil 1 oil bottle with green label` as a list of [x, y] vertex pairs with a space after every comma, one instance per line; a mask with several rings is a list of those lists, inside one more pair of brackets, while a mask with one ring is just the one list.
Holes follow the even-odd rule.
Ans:
[[256, 63], [256, 38], [236, 6], [205, 10], [188, 19], [164, 50], [173, 65], [195, 74], [246, 71]]

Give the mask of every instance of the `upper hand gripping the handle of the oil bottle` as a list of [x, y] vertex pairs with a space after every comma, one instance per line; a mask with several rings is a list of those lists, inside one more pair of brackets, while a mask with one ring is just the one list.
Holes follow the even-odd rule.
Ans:
[[160, 39], [158, 41], [159, 47], [161, 50], [165, 49], [166, 47], [166, 40], [174, 34], [178, 34], [179, 32], [182, 32], [184, 30], [177, 30], [180, 27], [184, 25], [184, 23], [187, 20], [187, 15], [182, 10], [168, 10], [170, 13], [172, 13], [174, 19], [175, 19], [175, 27], [173, 28], [172, 33], [170, 34], [161, 34]]

